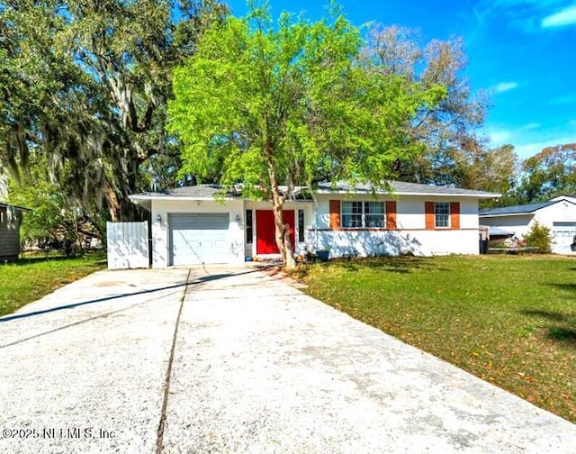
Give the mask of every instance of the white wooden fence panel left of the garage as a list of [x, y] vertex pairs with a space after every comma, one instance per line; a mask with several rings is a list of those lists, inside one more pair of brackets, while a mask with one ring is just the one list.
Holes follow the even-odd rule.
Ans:
[[148, 222], [106, 222], [108, 269], [148, 268]]

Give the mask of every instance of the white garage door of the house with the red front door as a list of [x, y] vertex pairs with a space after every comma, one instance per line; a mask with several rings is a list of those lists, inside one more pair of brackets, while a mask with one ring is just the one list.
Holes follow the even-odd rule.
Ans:
[[229, 213], [171, 213], [171, 265], [229, 262]]

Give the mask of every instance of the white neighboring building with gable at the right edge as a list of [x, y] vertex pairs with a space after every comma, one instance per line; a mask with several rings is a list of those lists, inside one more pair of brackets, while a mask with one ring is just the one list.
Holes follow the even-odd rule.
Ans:
[[541, 204], [525, 204], [480, 211], [480, 223], [514, 232], [521, 239], [538, 222], [550, 229], [554, 254], [572, 254], [576, 236], [576, 198], [563, 195]]

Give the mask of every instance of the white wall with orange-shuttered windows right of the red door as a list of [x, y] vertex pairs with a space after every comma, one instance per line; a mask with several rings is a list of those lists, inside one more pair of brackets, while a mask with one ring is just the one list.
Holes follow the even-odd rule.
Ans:
[[[404, 196], [396, 200], [396, 231], [331, 231], [329, 200], [374, 201], [371, 195], [318, 195], [318, 208], [310, 227], [309, 249], [329, 248], [330, 257], [354, 255], [419, 256], [478, 254], [478, 200], [466, 197]], [[379, 198], [393, 200], [392, 197]], [[459, 230], [426, 230], [425, 202], [459, 202]]]

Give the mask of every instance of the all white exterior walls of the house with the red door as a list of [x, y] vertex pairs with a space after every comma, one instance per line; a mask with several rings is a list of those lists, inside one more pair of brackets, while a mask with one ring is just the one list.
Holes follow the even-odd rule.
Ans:
[[[305, 241], [296, 232], [296, 254], [306, 250], [320, 250], [329, 247], [331, 257], [355, 254], [358, 256], [399, 255], [413, 253], [415, 255], [444, 254], [478, 254], [478, 201], [469, 197], [458, 196], [405, 196], [396, 201], [397, 227], [396, 231], [330, 231], [329, 230], [329, 200], [374, 200], [370, 195], [357, 195], [347, 198], [346, 195], [318, 195], [317, 202], [287, 202], [287, 210], [294, 210], [295, 220], [298, 210], [304, 210]], [[385, 200], [385, 198], [381, 199]], [[392, 197], [388, 197], [392, 200]], [[427, 231], [424, 213], [425, 202], [459, 202], [460, 229], [446, 231]], [[270, 210], [269, 202], [247, 200], [229, 200], [219, 204], [212, 200], [180, 201], [153, 200], [151, 206], [152, 241], [154, 268], [164, 268], [169, 265], [169, 213], [229, 213], [229, 262], [244, 261], [246, 256], [256, 254], [256, 238], [249, 244], [245, 238], [246, 210]], [[157, 216], [160, 222], [157, 222]], [[236, 216], [239, 222], [236, 222]], [[253, 218], [256, 226], [256, 216]], [[256, 232], [256, 229], [254, 229]]]

